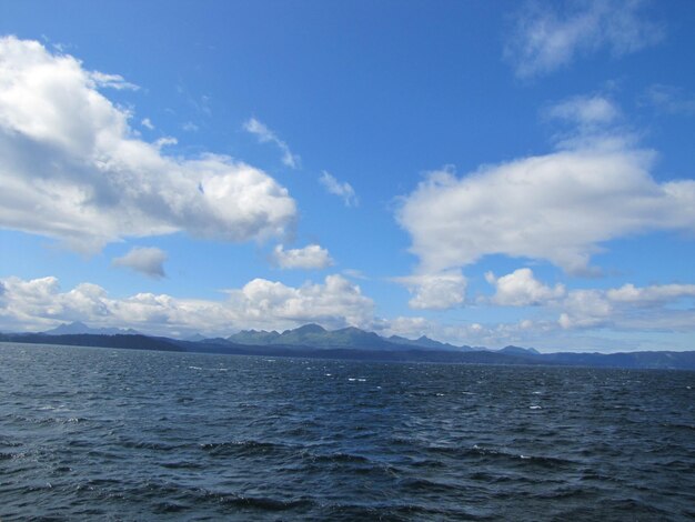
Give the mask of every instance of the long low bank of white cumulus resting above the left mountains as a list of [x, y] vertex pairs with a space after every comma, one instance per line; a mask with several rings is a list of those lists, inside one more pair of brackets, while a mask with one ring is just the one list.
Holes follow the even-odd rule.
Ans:
[[309, 322], [326, 328], [367, 328], [374, 312], [374, 302], [341, 275], [296, 288], [254, 279], [241, 289], [228, 290], [228, 299], [221, 301], [153, 293], [117, 299], [91, 283], [66, 292], [53, 277], [28, 281], [8, 278], [0, 283], [6, 289], [4, 307], [0, 308], [0, 330], [4, 331], [40, 330], [79, 320], [148, 333], [204, 331], [225, 335], [238, 329], [295, 328]]

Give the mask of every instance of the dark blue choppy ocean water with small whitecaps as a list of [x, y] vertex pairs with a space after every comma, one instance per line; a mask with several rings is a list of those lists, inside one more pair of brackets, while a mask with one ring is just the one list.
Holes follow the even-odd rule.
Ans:
[[0, 344], [0, 519], [695, 520], [695, 373]]

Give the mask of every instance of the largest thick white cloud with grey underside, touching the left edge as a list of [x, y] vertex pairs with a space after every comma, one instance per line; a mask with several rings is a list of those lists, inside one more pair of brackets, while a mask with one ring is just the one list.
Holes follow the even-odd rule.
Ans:
[[138, 139], [98, 91], [117, 80], [0, 39], [0, 227], [93, 252], [124, 237], [246, 241], [293, 225], [294, 201], [264, 172], [224, 155], [165, 157], [165, 143]]

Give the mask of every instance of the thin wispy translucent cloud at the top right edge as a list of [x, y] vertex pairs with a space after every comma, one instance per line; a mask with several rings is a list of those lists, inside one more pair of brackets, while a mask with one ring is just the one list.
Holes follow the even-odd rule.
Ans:
[[527, 2], [505, 47], [520, 78], [550, 73], [604, 49], [614, 57], [653, 46], [664, 29], [639, 0]]

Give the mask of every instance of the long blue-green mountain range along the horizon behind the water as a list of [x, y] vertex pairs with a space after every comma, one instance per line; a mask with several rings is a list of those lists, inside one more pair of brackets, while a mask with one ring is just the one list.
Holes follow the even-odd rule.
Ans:
[[352, 327], [329, 331], [319, 324], [305, 324], [283, 332], [244, 330], [228, 338], [194, 335], [189, 340], [178, 340], [143, 335], [134, 330], [92, 329], [75, 322], [39, 333], [0, 333], [0, 342], [393, 362], [695, 370], [695, 351], [540, 353], [533, 348], [513, 345], [495, 351], [481, 347], [455, 347], [426, 337], [415, 340], [397, 335], [383, 338]]

